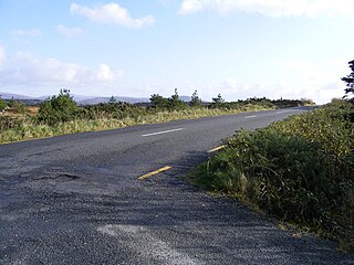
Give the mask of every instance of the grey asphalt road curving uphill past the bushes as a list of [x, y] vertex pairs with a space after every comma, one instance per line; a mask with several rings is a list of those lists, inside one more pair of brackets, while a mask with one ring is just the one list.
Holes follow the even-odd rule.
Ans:
[[281, 231], [180, 178], [235, 130], [304, 110], [0, 146], [0, 264], [354, 264], [332, 242]]

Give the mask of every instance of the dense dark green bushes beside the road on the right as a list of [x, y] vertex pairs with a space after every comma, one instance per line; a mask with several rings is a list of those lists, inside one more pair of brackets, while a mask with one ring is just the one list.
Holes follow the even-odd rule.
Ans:
[[333, 100], [225, 144], [195, 183], [354, 250], [353, 104]]

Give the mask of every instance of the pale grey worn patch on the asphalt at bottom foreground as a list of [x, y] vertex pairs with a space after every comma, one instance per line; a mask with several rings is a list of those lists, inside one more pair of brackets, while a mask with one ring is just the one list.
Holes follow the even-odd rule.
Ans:
[[144, 226], [107, 224], [100, 226], [97, 231], [116, 237], [118, 244], [124, 242], [124, 246], [129, 247], [136, 255], [145, 259], [156, 261], [157, 264], [204, 264], [189, 257], [188, 254], [173, 248], [166, 242], [152, 235]]

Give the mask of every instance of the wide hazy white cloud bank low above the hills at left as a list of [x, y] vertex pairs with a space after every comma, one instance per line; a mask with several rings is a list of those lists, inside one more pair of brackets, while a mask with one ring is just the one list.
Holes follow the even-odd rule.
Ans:
[[91, 68], [64, 63], [56, 59], [19, 52], [0, 70], [0, 84], [8, 86], [84, 86], [111, 83], [121, 76], [122, 71], [112, 71], [106, 64]]

